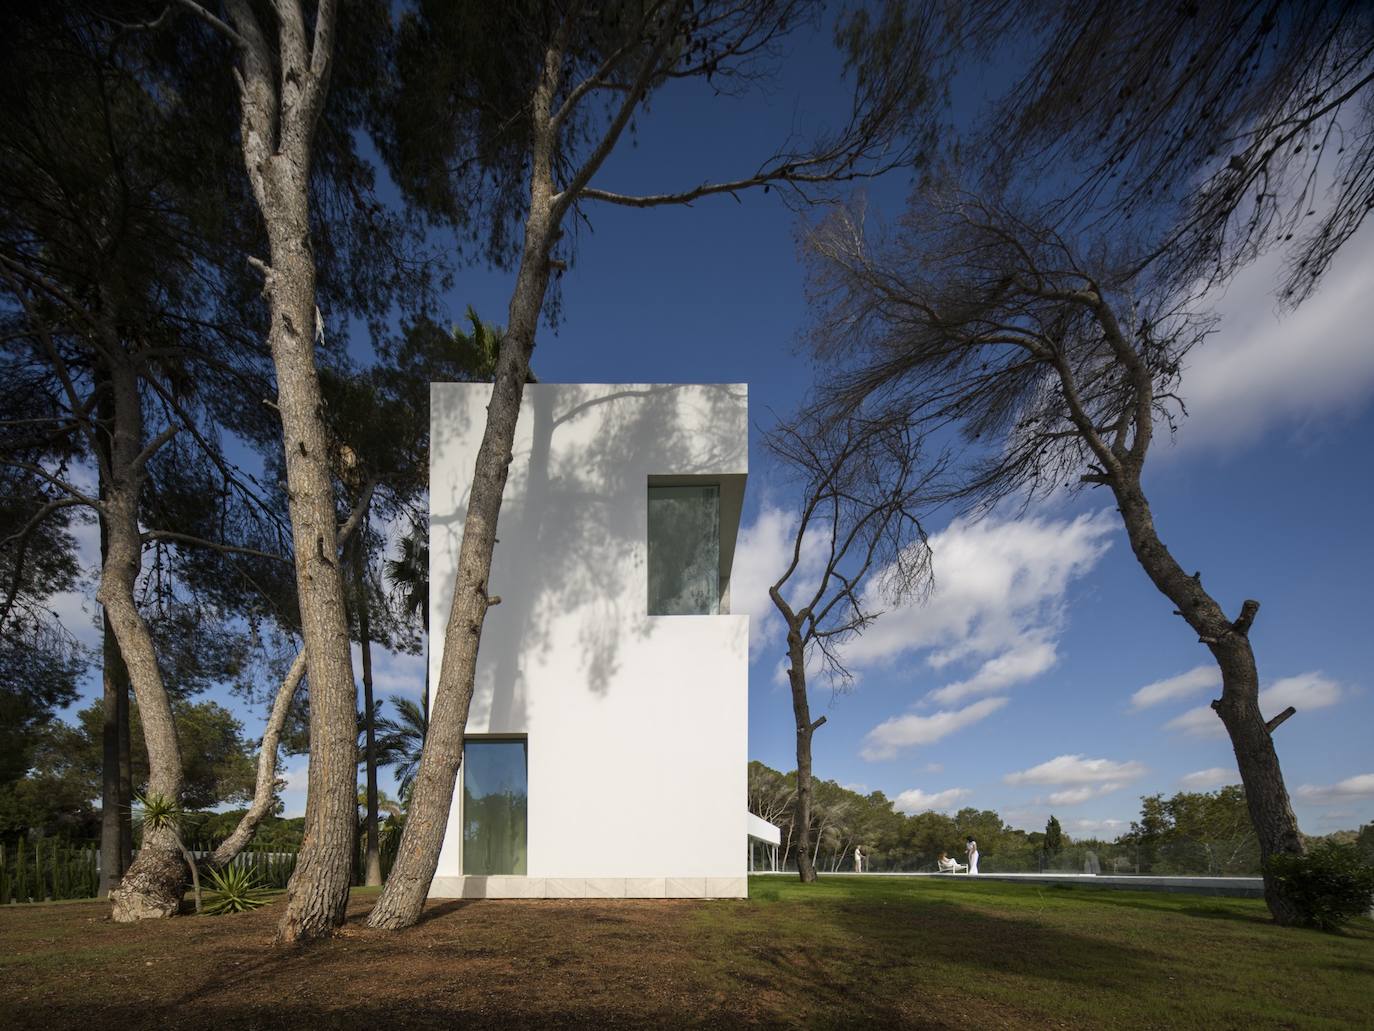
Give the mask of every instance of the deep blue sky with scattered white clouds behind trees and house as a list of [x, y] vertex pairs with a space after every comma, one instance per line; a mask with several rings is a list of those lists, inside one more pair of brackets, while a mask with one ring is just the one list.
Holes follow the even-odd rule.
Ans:
[[[955, 117], [982, 92], [963, 76]], [[790, 131], [838, 122], [844, 103], [824, 34], [802, 38], [767, 95], [682, 84], [658, 96], [595, 184], [653, 192], [749, 173]], [[900, 176], [868, 184], [870, 208], [894, 214], [907, 187]], [[588, 216], [562, 320], [539, 337], [541, 379], [747, 382], [760, 429], [797, 404], [813, 375], [798, 349], [804, 271], [797, 216], [775, 194]], [[1231, 612], [1261, 602], [1252, 641], [1265, 709], [1298, 708], [1276, 744], [1304, 830], [1323, 833], [1374, 819], [1374, 234], [1347, 245], [1322, 291], [1285, 319], [1270, 296], [1276, 268], [1263, 261], [1213, 298], [1219, 333], [1184, 375], [1191, 415], [1175, 443], [1157, 444], [1146, 487], [1180, 562]], [[459, 269], [453, 318], [473, 304], [504, 323], [513, 283]], [[364, 357], [367, 342], [353, 352]], [[735, 610], [754, 616], [749, 749], [786, 770], [780, 624], [761, 584], [776, 576], [796, 498], [757, 434], [750, 462], [732, 587]], [[820, 777], [910, 811], [996, 808], [1028, 829], [1054, 812], [1070, 834], [1106, 837], [1127, 829], [1142, 795], [1238, 782], [1220, 722], [1200, 709], [1217, 693], [1210, 656], [1145, 579], [1101, 491], [1020, 520], [932, 528], [934, 597], [886, 613], [851, 647], [851, 691], [815, 686], [829, 718], [815, 738]], [[89, 638], [82, 606], [58, 608]], [[376, 680], [383, 696], [418, 698], [420, 660], [382, 656]], [[261, 713], [216, 697], [250, 731], [261, 726]], [[304, 757], [287, 771], [287, 810], [300, 812]]]

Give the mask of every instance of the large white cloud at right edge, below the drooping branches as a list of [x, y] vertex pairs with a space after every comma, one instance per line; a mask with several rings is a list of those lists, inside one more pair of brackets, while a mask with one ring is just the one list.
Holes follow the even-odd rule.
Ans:
[[1217, 333], [1193, 352], [1183, 374], [1189, 418], [1183, 447], [1230, 447], [1264, 430], [1355, 411], [1374, 395], [1374, 228], [1345, 243], [1320, 291], [1281, 318], [1274, 252], [1237, 275], [1217, 298]]

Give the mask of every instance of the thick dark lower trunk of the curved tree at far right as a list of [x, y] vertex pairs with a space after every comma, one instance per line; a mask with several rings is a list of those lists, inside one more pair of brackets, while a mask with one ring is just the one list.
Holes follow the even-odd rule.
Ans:
[[1303, 836], [1289, 801], [1274, 738], [1260, 712], [1260, 678], [1250, 646], [1250, 624], [1260, 603], [1248, 599], [1232, 621], [1205, 590], [1200, 573], [1189, 576], [1160, 540], [1150, 505], [1139, 478], [1112, 484], [1125, 522], [1131, 550], [1154, 586], [1175, 603], [1176, 612], [1197, 631], [1221, 669], [1221, 697], [1212, 708], [1231, 738], [1250, 822], [1264, 865], [1264, 900], [1275, 922], [1303, 922], [1303, 914], [1268, 873], [1272, 855], [1301, 855]]

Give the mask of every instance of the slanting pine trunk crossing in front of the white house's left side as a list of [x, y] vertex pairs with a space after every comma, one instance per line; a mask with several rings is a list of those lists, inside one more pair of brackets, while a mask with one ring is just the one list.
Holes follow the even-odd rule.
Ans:
[[434, 689], [433, 711], [420, 766], [411, 789], [405, 829], [382, 896], [368, 916], [368, 927], [398, 931], [419, 920], [429, 895], [438, 852], [448, 830], [448, 817], [463, 762], [463, 734], [473, 702], [477, 647], [492, 601], [486, 579], [496, 546], [496, 521], [506, 492], [515, 443], [515, 423], [529, 379], [534, 330], [548, 289], [548, 261], [556, 239], [554, 223], [554, 131], [550, 111], [561, 76], [561, 54], [545, 59], [544, 74], [533, 98], [530, 203], [525, 220], [515, 291], [511, 296], [506, 335], [496, 359], [496, 382], [486, 407], [486, 429], [477, 451], [467, 518], [458, 553], [453, 602], [444, 628], [444, 658]]

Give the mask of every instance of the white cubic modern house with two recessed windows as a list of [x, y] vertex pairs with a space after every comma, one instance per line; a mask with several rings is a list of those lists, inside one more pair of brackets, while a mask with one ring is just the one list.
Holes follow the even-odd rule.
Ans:
[[[431, 627], [489, 395], [430, 388]], [[525, 389], [431, 896], [747, 894], [747, 441], [743, 385]]]

